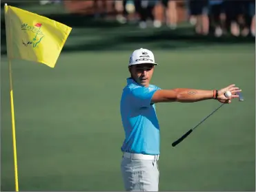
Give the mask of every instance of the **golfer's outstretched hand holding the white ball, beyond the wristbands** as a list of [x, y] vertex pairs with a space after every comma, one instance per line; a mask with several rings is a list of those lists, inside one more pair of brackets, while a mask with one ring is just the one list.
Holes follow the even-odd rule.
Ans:
[[[228, 98], [226, 98], [226, 96], [224, 96], [225, 92], [227, 92], [227, 91], [231, 92], [231, 96]], [[242, 92], [242, 90], [239, 89], [239, 87], [235, 87], [234, 84], [229, 85], [228, 87], [219, 89], [217, 100], [219, 100], [220, 103], [231, 103], [231, 99], [239, 97], [237, 95], [238, 92]]]

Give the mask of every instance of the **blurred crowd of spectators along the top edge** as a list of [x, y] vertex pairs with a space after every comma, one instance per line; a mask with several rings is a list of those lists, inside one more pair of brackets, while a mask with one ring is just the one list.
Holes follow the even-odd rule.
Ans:
[[[41, 1], [41, 4], [60, 3], [60, 0]], [[110, 0], [95, 0], [95, 17], [99, 17], [97, 6], [106, 6]], [[215, 36], [255, 36], [255, 0], [112, 0], [116, 19], [128, 23], [130, 14], [136, 14], [139, 28], [149, 26], [161, 28], [167, 25], [175, 30], [185, 10], [186, 21], [194, 26], [195, 33]], [[157, 7], [163, 8], [163, 18], [157, 15]], [[107, 12], [107, 11], [106, 11]], [[103, 14], [107, 17], [107, 13]], [[134, 17], [132, 17], [134, 19]]]

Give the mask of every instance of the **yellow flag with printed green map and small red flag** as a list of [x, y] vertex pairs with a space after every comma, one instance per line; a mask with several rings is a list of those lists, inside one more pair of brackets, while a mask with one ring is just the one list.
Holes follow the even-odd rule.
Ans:
[[39, 14], [4, 6], [8, 58], [55, 67], [72, 28]]

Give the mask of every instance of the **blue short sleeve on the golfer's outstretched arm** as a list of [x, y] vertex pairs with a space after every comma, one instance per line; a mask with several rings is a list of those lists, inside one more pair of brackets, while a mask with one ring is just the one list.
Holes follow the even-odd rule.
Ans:
[[150, 107], [152, 96], [157, 87], [137, 87], [131, 91], [131, 103], [135, 107]]

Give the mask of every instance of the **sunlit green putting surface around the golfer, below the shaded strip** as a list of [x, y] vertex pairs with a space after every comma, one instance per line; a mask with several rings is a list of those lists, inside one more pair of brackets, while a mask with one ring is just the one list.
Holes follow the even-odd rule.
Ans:
[[[135, 47], [137, 48], [137, 47]], [[20, 191], [122, 191], [119, 115], [130, 52], [61, 54], [54, 69], [13, 61]], [[161, 191], [255, 190], [255, 50], [215, 45], [156, 50], [152, 83], [164, 89], [242, 88], [245, 101], [157, 105]], [[1, 58], [1, 191], [14, 191], [8, 62]]]

